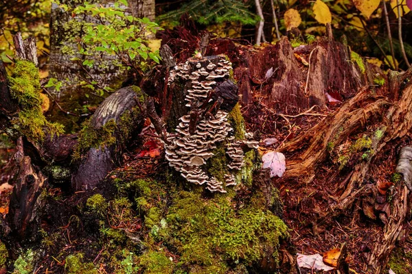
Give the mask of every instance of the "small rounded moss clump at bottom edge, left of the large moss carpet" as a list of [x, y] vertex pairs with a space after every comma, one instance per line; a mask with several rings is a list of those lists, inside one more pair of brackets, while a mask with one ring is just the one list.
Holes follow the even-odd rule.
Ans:
[[145, 274], [168, 274], [173, 271], [172, 261], [161, 251], [148, 251], [140, 257], [140, 266]]

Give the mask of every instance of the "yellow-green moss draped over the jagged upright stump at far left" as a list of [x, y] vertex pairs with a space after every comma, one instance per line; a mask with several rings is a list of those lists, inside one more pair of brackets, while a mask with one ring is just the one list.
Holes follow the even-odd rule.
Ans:
[[10, 93], [19, 102], [21, 111], [12, 120], [14, 129], [34, 141], [41, 141], [45, 131], [51, 136], [62, 134], [62, 125], [50, 123], [41, 111], [38, 69], [32, 62], [19, 60], [9, 78]]

